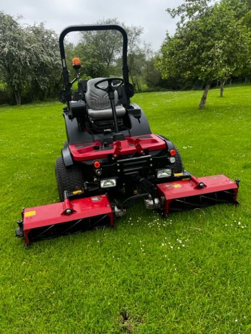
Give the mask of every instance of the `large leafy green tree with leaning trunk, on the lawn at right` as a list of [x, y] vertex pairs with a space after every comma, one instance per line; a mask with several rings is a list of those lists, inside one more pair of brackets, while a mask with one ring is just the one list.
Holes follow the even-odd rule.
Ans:
[[246, 29], [231, 1], [209, 6], [210, 0], [186, 0], [177, 9], [168, 9], [173, 17], [181, 15], [181, 20], [174, 36], [167, 35], [162, 45], [158, 68], [163, 78], [180, 75], [203, 80], [200, 109], [205, 107], [212, 81], [223, 83], [250, 57]]

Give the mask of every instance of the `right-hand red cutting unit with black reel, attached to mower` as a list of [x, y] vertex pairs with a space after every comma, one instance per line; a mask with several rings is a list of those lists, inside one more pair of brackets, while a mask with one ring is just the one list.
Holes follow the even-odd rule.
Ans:
[[238, 185], [223, 174], [157, 185], [158, 197], [165, 198], [165, 213], [219, 202], [237, 203]]

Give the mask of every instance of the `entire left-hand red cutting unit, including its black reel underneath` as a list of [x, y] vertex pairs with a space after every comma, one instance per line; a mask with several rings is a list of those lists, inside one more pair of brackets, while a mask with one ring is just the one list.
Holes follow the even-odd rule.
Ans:
[[26, 246], [45, 236], [55, 237], [99, 225], [113, 226], [112, 209], [106, 195], [35, 206], [24, 209], [22, 216], [20, 223]]

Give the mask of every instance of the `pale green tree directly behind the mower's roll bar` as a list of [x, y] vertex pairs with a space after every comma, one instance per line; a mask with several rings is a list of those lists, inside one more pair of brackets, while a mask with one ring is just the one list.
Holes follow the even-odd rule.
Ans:
[[[144, 48], [140, 35], [143, 33], [142, 27], [128, 27], [117, 19], [100, 20], [96, 24], [114, 24], [121, 26], [128, 35], [128, 66], [130, 78], [135, 86], [140, 87], [139, 75], [143, 66]], [[90, 77], [109, 76], [118, 72], [118, 65], [121, 66], [122, 56], [122, 35], [116, 30], [90, 31], [80, 33], [80, 42], [76, 48], [81, 58], [84, 59], [86, 72]]]

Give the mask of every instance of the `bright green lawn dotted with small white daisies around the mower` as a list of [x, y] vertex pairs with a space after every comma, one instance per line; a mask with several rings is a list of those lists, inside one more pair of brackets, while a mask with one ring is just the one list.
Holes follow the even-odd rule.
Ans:
[[[59, 103], [0, 108], [0, 333], [250, 333], [251, 87], [135, 95], [197, 176], [240, 178], [239, 206], [162, 219], [142, 204], [111, 230], [33, 243], [23, 206], [58, 200]], [[124, 319], [127, 318], [127, 319]]]

